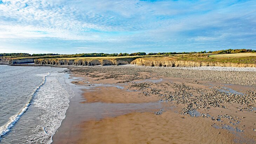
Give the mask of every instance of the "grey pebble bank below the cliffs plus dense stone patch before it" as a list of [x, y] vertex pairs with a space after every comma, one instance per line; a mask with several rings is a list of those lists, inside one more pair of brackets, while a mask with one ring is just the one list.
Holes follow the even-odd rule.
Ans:
[[[102, 67], [73, 67], [70, 68], [73, 73], [98, 78], [96, 80], [114, 78], [121, 80], [120, 83], [129, 82], [129, 88], [140, 91], [140, 95], [156, 95], [160, 100], [170, 101], [176, 104], [182, 104], [182, 114], [196, 116], [198, 109], [210, 109], [219, 107], [226, 109], [225, 104], [237, 103], [245, 107], [237, 107], [238, 111], [255, 112], [256, 103], [256, 68], [234, 68], [234, 67], [145, 67], [136, 65], [125, 66], [102, 66]], [[145, 74], [141, 74], [145, 73]], [[196, 88], [173, 82], [147, 83], [133, 82], [134, 80], [160, 77], [190, 78], [193, 84], [202, 82], [220, 82], [226, 84], [249, 85], [250, 90], [244, 90], [244, 93], [233, 92], [225, 87], [207, 85], [209, 89]], [[205, 85], [205, 83], [203, 84]], [[247, 86], [246, 86], [247, 87]], [[223, 90], [223, 88], [225, 90]], [[170, 91], [170, 89], [173, 89]], [[210, 92], [209, 92], [210, 91]], [[246, 92], [245, 92], [246, 91]], [[158, 113], [157, 113], [158, 114]], [[160, 114], [160, 113], [159, 113]], [[218, 115], [212, 117], [208, 114], [202, 114], [202, 117], [211, 117], [218, 121], [220, 118], [230, 119], [239, 123], [241, 119], [229, 115]], [[232, 123], [235, 124], [235, 123]]]

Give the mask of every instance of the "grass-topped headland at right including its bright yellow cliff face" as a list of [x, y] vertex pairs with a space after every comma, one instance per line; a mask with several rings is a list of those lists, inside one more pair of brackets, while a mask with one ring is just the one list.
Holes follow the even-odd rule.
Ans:
[[208, 55], [190, 54], [181, 56], [168, 56], [156, 58], [140, 58], [131, 62], [141, 66], [159, 67], [201, 67], [201, 66], [220, 66], [220, 67], [256, 67], [256, 54], [243, 53], [236, 55]]

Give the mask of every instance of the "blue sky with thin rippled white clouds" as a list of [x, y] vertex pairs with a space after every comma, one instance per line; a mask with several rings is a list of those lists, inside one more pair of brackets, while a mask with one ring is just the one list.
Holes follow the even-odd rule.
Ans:
[[0, 53], [256, 49], [256, 0], [0, 0]]

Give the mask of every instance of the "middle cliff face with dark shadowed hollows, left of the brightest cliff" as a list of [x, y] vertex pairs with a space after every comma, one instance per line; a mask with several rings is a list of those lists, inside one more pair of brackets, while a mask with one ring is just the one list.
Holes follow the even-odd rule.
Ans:
[[75, 66], [97, 66], [97, 65], [120, 65], [130, 64], [133, 59], [35, 59], [35, 64], [50, 65], [75, 65]]

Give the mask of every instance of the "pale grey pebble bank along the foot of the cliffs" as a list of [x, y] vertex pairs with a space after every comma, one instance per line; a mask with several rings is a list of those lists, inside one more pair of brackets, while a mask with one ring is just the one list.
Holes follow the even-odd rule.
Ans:
[[[204, 69], [218, 69], [204, 70]], [[224, 70], [230, 71], [224, 71]], [[236, 69], [236, 70], [234, 70]], [[255, 70], [254, 70], [255, 69]], [[169, 67], [145, 67], [136, 65], [123, 66], [101, 66], [101, 67], [73, 67], [72, 70], [77, 73], [84, 73], [91, 77], [99, 77], [99, 73], [104, 73], [100, 79], [115, 78], [122, 79], [123, 75], [128, 75], [123, 82], [132, 80], [147, 79], [150, 77], [177, 77], [192, 78], [200, 81], [221, 82], [227, 84], [256, 85], [256, 68], [229, 68], [229, 67], [194, 67], [194, 68], [169, 68]], [[231, 71], [232, 70], [232, 71]], [[247, 71], [241, 71], [247, 70]], [[249, 71], [251, 70], [251, 71]], [[254, 70], [254, 71], [253, 71]], [[140, 73], [150, 73], [151, 76], [142, 76]]]

